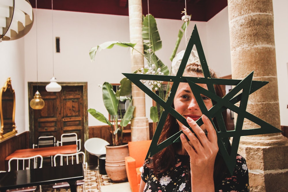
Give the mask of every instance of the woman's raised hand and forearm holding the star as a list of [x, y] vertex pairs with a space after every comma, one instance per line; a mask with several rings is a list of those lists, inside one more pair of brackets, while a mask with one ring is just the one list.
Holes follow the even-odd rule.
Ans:
[[187, 123], [197, 137], [187, 127], [182, 126], [183, 133], [190, 141], [188, 142], [184, 134], [181, 134], [180, 138], [190, 156], [192, 191], [214, 191], [213, 170], [218, 152], [217, 134], [205, 115], [202, 115], [202, 120], [208, 132], [207, 137], [197, 123], [188, 117]]

